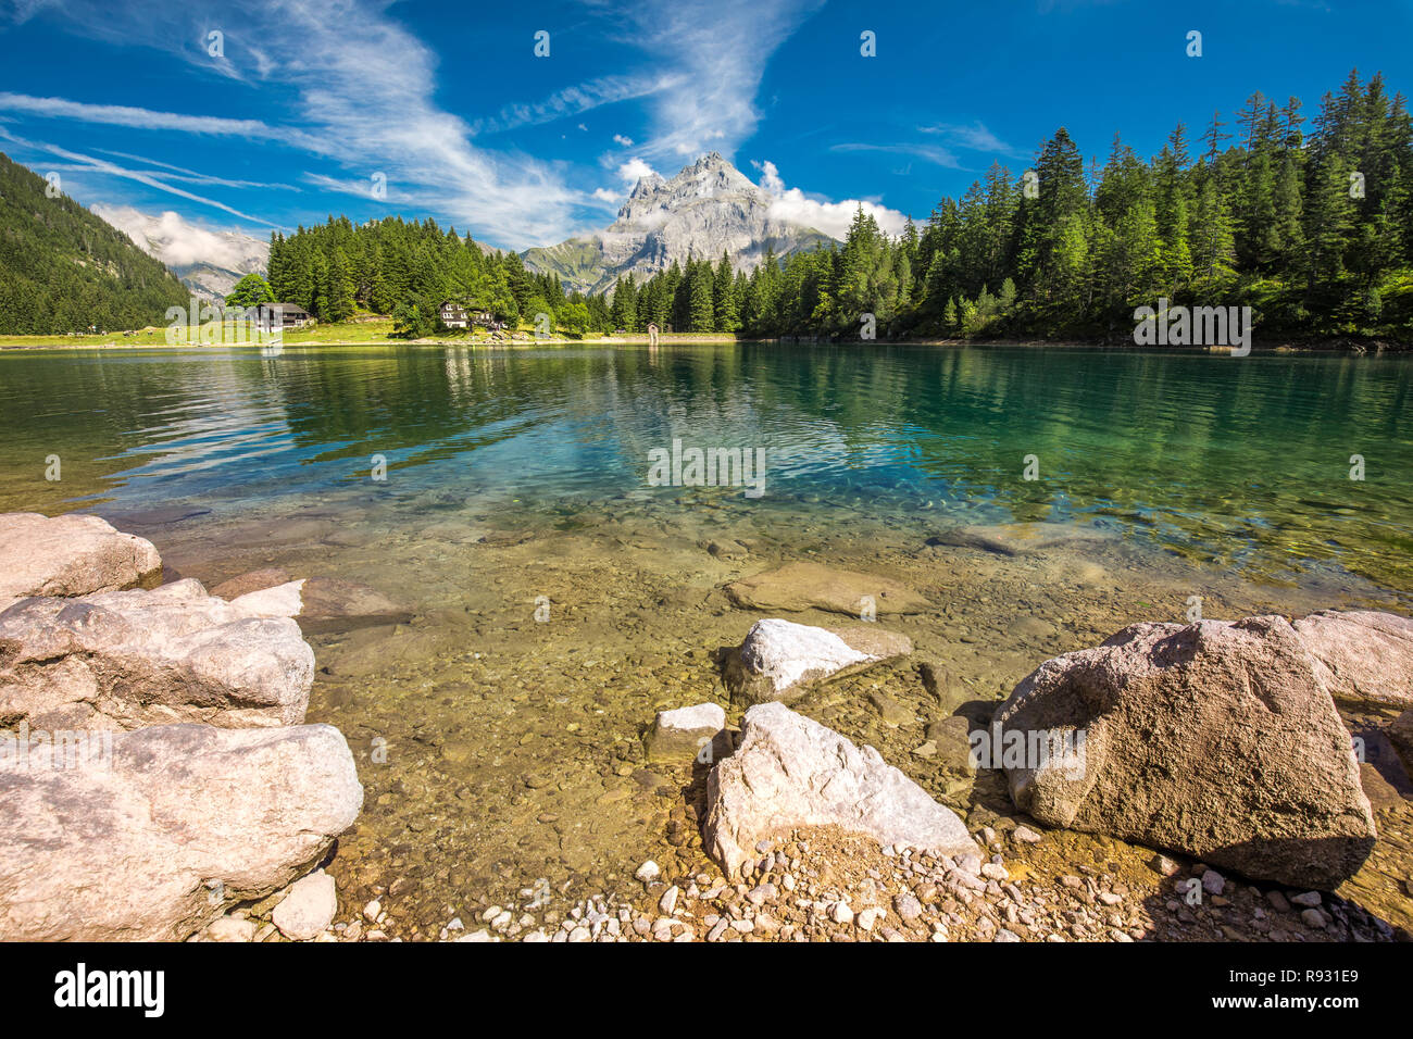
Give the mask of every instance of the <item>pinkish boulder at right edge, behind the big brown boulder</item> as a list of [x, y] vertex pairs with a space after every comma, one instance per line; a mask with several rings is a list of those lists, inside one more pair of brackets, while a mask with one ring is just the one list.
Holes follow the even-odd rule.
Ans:
[[1413, 621], [1368, 609], [1321, 609], [1294, 628], [1337, 698], [1413, 707]]

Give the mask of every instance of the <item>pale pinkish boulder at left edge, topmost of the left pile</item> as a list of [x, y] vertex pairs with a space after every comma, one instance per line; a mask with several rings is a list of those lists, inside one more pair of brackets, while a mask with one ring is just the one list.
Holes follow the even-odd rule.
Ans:
[[0, 609], [30, 595], [89, 595], [161, 581], [151, 541], [99, 516], [0, 515]]

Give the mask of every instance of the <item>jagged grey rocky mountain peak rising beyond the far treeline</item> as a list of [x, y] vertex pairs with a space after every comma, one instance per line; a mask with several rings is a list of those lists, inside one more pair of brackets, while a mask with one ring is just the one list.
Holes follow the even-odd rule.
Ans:
[[629, 271], [650, 276], [688, 257], [719, 260], [731, 253], [736, 269], [753, 270], [766, 247], [776, 256], [834, 242], [824, 232], [770, 215], [771, 196], [712, 151], [670, 181], [639, 180], [617, 219], [591, 237], [527, 249], [526, 266], [558, 274], [568, 288], [605, 293]]

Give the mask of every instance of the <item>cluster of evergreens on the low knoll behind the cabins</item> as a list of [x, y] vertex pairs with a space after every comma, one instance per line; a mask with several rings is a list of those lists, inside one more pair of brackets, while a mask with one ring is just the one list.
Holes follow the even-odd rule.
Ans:
[[455, 228], [393, 216], [359, 226], [346, 216], [285, 237], [270, 236], [270, 290], [321, 321], [346, 321], [355, 310], [390, 314], [397, 331], [437, 331], [447, 301], [486, 310], [514, 325], [550, 318], [550, 329], [589, 332], [608, 327], [608, 303], [565, 295], [558, 276], [530, 273], [516, 253], [486, 252]]

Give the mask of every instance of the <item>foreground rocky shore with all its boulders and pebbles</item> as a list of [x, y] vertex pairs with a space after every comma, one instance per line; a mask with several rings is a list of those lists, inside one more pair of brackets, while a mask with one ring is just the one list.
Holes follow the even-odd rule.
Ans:
[[[41, 776], [32, 761], [28, 770], [0, 765], [7, 803], [21, 806], [6, 816], [0, 937], [398, 940], [396, 885], [341, 912], [322, 869], [362, 807], [362, 786], [343, 736], [301, 724], [314, 677], [301, 629], [396, 623], [406, 611], [366, 587], [277, 568], [213, 594], [191, 580], [154, 588], [155, 547], [96, 517], [0, 516], [0, 530], [4, 551], [28, 561], [28, 570], [3, 568], [21, 577], [0, 584], [0, 729], [105, 732], [112, 766], [54, 770], [51, 762]], [[1399, 933], [1330, 892], [1375, 840], [1361, 787], [1371, 780], [1361, 779], [1335, 701], [1403, 710], [1388, 738], [1407, 758], [1413, 625], [1405, 618], [1135, 625], [1101, 647], [1044, 662], [996, 711], [998, 735], [1085, 731], [1084, 770], [1067, 775], [1072, 762], [1063, 753], [1039, 765], [1002, 756], [992, 765], [1024, 813], [978, 806], [962, 818], [872, 746], [786, 705], [906, 662], [911, 642], [886, 628], [890, 614], [918, 608], [906, 588], [787, 564], [725, 594], [764, 614], [851, 614], [865, 597], [872, 606], [863, 621], [831, 629], [764, 616], [719, 662], [733, 710], [745, 708], [739, 731], [721, 704], [681, 704], [644, 734], [643, 761], [670, 780], [657, 793], [681, 800], [668, 840], [697, 868], [644, 862], [627, 889], [572, 902], [534, 881], [517, 900], [468, 906], [438, 933], [410, 937], [1279, 941]], [[1381, 663], [1369, 667], [1375, 653]], [[965, 759], [976, 731], [957, 714], [930, 727], [914, 753]], [[1077, 749], [1072, 739], [1067, 746]], [[170, 775], [143, 786], [136, 762], [158, 762], [157, 775]], [[304, 786], [273, 783], [274, 773]], [[44, 855], [54, 854], [54, 830], [40, 820], [57, 806], [69, 811], [65, 840], [110, 840], [161, 797], [185, 814], [158, 811], [164, 823], [181, 814], [167, 833], [133, 830], [126, 872], [75, 876], [85, 845], [65, 845], [68, 872], [55, 875], [92, 891], [92, 903], [62, 906], [57, 891], [34, 889], [52, 861]], [[233, 804], [252, 806], [244, 826], [226, 818]], [[226, 844], [215, 858], [182, 861], [172, 847], [184, 841], [171, 834], [205, 828]], [[278, 840], [294, 833], [302, 844]], [[1075, 833], [1113, 838], [1112, 858], [1075, 864], [1067, 851]], [[1136, 857], [1145, 844], [1164, 851]], [[143, 893], [144, 871], [165, 884]]]

